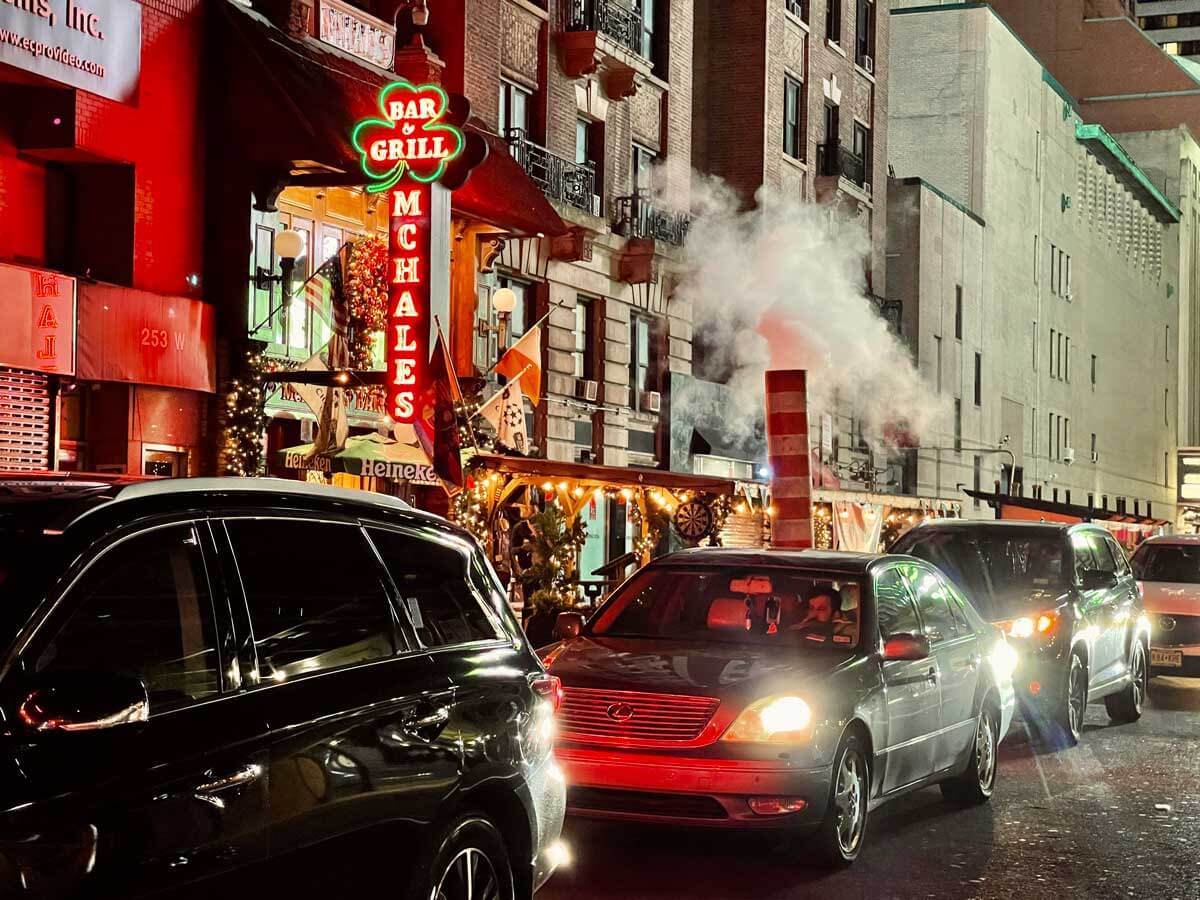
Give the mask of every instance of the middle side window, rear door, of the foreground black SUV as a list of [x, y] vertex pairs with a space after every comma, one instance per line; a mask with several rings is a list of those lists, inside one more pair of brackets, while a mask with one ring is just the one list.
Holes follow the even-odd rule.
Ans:
[[235, 518], [226, 530], [246, 592], [260, 680], [283, 682], [396, 652], [385, 576], [361, 528]]

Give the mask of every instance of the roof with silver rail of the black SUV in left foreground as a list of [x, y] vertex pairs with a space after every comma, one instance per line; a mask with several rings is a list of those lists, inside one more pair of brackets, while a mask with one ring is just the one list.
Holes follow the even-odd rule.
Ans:
[[103, 510], [133, 516], [144, 511], [182, 509], [202, 503], [222, 506], [286, 506], [312, 511], [352, 511], [424, 521], [461, 530], [440, 516], [413, 509], [398, 497], [347, 487], [312, 485], [276, 478], [181, 478], [106, 482], [100, 479], [0, 479], [0, 523], [66, 530]]

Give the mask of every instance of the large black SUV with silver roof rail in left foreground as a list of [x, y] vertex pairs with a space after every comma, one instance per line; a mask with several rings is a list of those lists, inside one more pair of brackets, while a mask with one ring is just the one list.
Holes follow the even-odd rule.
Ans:
[[0, 480], [0, 896], [528, 898], [559, 697], [474, 540], [400, 500]]

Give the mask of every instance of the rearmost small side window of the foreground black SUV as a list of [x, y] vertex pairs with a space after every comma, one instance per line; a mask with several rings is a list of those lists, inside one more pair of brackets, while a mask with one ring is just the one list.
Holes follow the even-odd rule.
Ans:
[[497, 623], [467, 582], [467, 558], [432, 538], [370, 529], [401, 602], [425, 647], [494, 641]]

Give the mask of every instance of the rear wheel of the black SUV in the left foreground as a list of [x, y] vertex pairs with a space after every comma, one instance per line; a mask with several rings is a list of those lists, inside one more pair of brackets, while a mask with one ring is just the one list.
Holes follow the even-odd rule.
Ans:
[[409, 900], [516, 900], [512, 863], [499, 829], [466, 812], [430, 844], [408, 892]]

